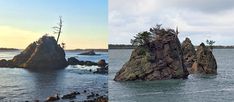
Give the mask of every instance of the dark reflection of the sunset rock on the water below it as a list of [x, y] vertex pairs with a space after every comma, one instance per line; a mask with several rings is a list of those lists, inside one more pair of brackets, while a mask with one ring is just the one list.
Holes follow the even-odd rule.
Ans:
[[31, 76], [31, 97], [45, 99], [56, 93], [61, 93], [64, 81], [64, 70], [27, 70]]

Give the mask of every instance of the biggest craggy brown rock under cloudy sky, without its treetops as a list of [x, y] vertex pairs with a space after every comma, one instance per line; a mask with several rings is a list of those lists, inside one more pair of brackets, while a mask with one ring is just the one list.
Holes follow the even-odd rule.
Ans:
[[154, 31], [155, 40], [138, 46], [114, 80], [161, 80], [187, 78], [181, 44], [174, 30]]

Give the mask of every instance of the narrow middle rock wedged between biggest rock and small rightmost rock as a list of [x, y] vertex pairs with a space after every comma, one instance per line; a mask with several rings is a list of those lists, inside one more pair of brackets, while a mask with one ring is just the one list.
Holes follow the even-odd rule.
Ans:
[[184, 65], [187, 68], [187, 70], [190, 72], [192, 65], [195, 61], [195, 56], [196, 56], [195, 47], [193, 46], [189, 38], [186, 38], [183, 41], [181, 47], [183, 52]]

